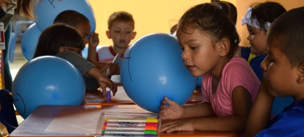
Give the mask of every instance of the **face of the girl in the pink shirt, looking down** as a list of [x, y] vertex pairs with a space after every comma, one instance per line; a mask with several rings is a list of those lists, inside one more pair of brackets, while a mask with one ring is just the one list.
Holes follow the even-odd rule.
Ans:
[[219, 67], [219, 54], [211, 43], [211, 39], [198, 29], [186, 27], [187, 33], [178, 29], [177, 39], [182, 50], [184, 65], [195, 77], [199, 77], [207, 72], [216, 71]]

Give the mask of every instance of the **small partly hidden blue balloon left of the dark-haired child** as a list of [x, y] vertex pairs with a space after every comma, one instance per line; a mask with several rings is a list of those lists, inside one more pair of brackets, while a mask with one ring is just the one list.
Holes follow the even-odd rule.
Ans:
[[30, 25], [21, 38], [21, 51], [27, 61], [33, 59], [41, 31], [36, 23]]

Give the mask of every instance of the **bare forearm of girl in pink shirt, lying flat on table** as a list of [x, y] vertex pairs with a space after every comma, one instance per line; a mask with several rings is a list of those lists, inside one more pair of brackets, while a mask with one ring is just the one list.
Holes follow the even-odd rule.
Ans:
[[[161, 131], [245, 131], [246, 120], [252, 106], [251, 95], [243, 86], [237, 86], [232, 93], [234, 115], [223, 117], [197, 117], [188, 119], [178, 119], [163, 123]], [[197, 108], [203, 109], [203, 108]], [[185, 110], [184, 110], [185, 111]], [[187, 112], [188, 114], [198, 113], [195, 110]], [[193, 114], [195, 115], [195, 114]]]

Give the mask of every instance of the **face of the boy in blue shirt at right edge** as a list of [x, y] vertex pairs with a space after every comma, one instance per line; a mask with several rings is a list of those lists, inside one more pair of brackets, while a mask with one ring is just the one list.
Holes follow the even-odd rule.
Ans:
[[293, 88], [297, 83], [297, 67], [292, 68], [286, 55], [277, 47], [280, 47], [279, 41], [271, 38], [268, 41], [268, 56], [261, 63], [269, 93], [276, 97], [292, 96], [296, 99], [300, 97], [295, 92], [297, 89]]

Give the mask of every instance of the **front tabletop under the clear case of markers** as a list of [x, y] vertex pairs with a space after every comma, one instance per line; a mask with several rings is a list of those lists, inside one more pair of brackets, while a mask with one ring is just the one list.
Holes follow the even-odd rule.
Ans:
[[[137, 105], [39, 106], [9, 136], [94, 136], [103, 112], [149, 113]], [[175, 131], [169, 136], [237, 136], [235, 132]]]

